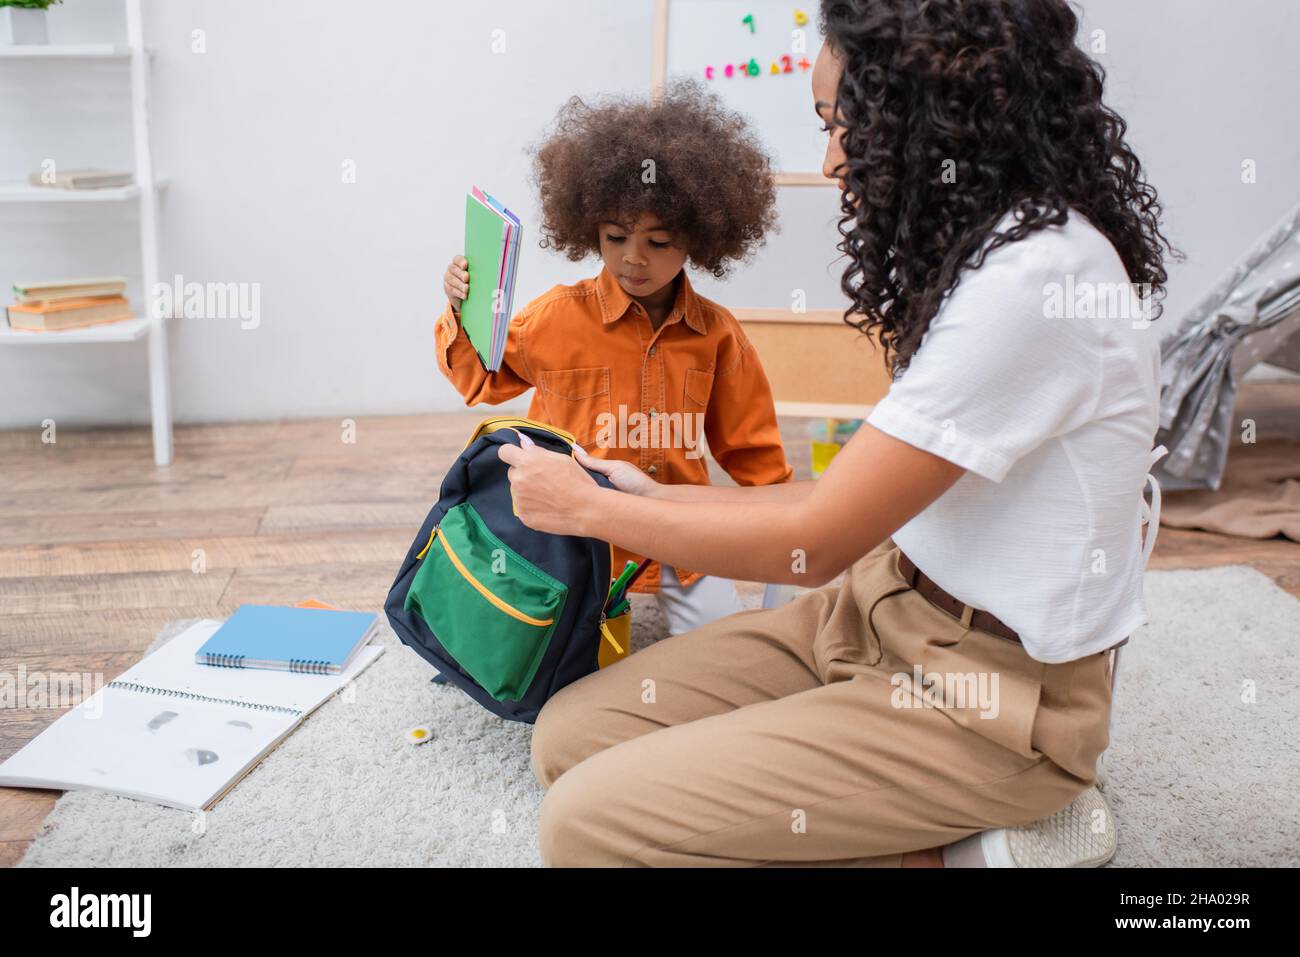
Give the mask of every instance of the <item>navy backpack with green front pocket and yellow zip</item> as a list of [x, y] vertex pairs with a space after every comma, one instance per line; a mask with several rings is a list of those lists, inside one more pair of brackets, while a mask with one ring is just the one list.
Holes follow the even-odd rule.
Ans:
[[573, 454], [563, 429], [515, 416], [480, 423], [442, 480], [384, 610], [402, 642], [446, 680], [489, 711], [532, 723], [555, 692], [597, 670], [602, 640], [615, 641], [603, 612], [614, 550], [520, 521], [498, 458], [499, 446], [520, 445], [520, 433]]

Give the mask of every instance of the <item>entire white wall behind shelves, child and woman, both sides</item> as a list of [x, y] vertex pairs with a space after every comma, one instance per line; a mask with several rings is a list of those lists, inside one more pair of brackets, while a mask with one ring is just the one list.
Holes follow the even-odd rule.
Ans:
[[[1083, 5], [1087, 30], [1106, 30], [1110, 101], [1190, 256], [1173, 270], [1173, 326], [1300, 199], [1300, 13], [1290, 0]], [[120, 7], [68, 0], [52, 39], [121, 42]], [[464, 191], [477, 182], [536, 222], [524, 147], [572, 94], [646, 88], [651, 13], [651, 0], [147, 0], [153, 157], [169, 182], [161, 273], [261, 295], [257, 329], [172, 325], [178, 420], [460, 408], [432, 339]], [[195, 29], [205, 53], [191, 52]], [[124, 64], [0, 61], [0, 179], [47, 156], [130, 165], [129, 122]], [[1243, 159], [1258, 183], [1240, 182]], [[836, 211], [829, 190], [784, 190], [783, 231], [759, 259], [699, 287], [731, 306], [786, 304], [793, 289], [838, 306]], [[125, 207], [0, 204], [0, 281], [121, 272], [140, 302], [135, 237]], [[520, 294], [594, 270], [529, 246]], [[0, 428], [51, 416], [146, 421], [143, 346], [0, 348]]]

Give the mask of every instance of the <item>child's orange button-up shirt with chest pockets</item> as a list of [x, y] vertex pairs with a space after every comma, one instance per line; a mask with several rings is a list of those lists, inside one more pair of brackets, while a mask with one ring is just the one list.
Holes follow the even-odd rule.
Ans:
[[[438, 367], [465, 402], [499, 403], [536, 387], [530, 419], [558, 425], [602, 459], [630, 462], [668, 485], [707, 485], [708, 452], [738, 485], [789, 481], [772, 389], [740, 322], [681, 274], [658, 330], [608, 269], [555, 286], [510, 322], [506, 359], [488, 372], [451, 312], [437, 326]], [[614, 549], [612, 575], [628, 559]], [[689, 585], [699, 572], [675, 570]], [[659, 564], [633, 592], [659, 588]]]

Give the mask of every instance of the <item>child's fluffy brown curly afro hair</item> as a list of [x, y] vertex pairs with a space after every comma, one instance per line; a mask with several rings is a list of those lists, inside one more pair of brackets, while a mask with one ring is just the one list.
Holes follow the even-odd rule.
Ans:
[[533, 150], [533, 176], [541, 246], [573, 261], [599, 254], [599, 222], [630, 228], [653, 213], [680, 234], [692, 264], [722, 278], [776, 225], [770, 157], [744, 117], [696, 81], [653, 100], [572, 98]]

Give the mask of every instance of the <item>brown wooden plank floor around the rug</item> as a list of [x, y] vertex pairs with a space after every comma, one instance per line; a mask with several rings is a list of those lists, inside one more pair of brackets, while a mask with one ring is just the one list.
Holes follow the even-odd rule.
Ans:
[[[1258, 382], [1239, 411], [1300, 438], [1300, 384]], [[485, 413], [486, 415], [486, 413]], [[155, 468], [148, 429], [0, 433], [0, 672], [109, 681], [177, 618], [316, 597], [377, 610], [446, 465], [484, 415], [191, 425]], [[783, 423], [800, 477], [805, 423]], [[715, 469], [716, 473], [716, 469]], [[716, 480], [725, 481], [722, 476]], [[1165, 528], [1152, 568], [1248, 563], [1300, 597], [1300, 545]], [[0, 759], [61, 711], [0, 710]], [[56, 792], [0, 788], [0, 865]]]

